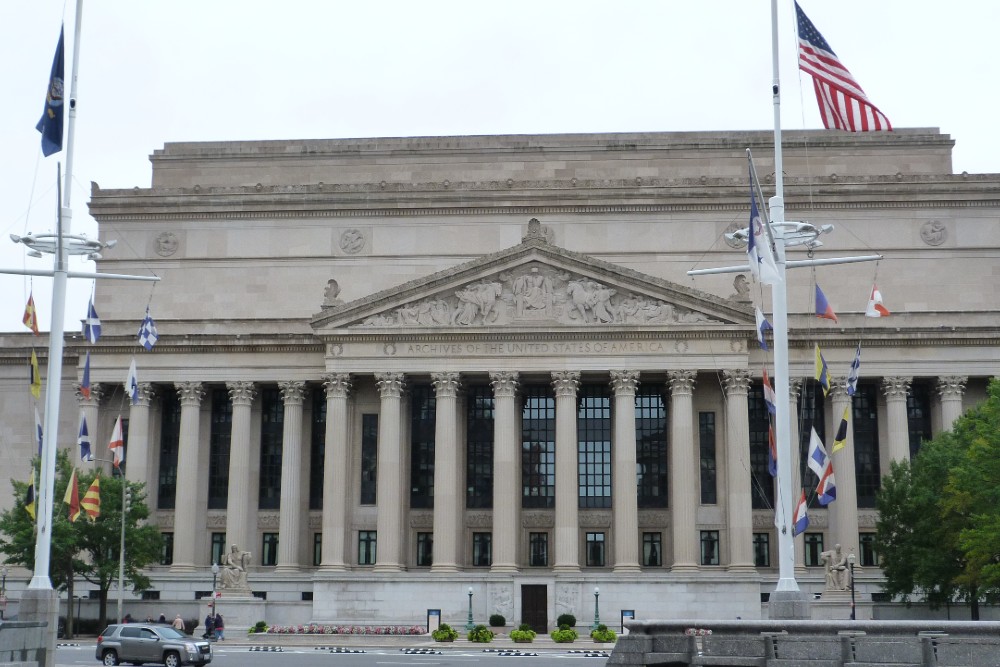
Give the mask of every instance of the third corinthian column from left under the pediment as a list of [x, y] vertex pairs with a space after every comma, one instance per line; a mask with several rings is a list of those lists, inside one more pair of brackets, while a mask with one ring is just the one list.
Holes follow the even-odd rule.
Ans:
[[458, 571], [461, 534], [458, 474], [458, 373], [432, 373], [434, 410], [434, 562], [433, 572]]

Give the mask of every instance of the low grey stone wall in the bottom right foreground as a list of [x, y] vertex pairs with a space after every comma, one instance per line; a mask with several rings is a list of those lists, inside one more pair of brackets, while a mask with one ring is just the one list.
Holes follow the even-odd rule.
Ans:
[[[1000, 623], [634, 621], [608, 665], [1000, 667]], [[709, 633], [710, 631], [710, 633]]]

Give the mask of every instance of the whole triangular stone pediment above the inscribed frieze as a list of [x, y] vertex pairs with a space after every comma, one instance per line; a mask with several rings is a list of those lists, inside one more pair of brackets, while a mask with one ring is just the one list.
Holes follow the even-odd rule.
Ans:
[[752, 325], [745, 304], [549, 244], [544, 236], [324, 307], [320, 332]]

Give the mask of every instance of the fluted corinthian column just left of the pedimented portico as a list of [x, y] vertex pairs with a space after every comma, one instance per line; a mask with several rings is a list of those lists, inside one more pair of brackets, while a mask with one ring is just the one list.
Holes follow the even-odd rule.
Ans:
[[278, 507], [278, 563], [275, 571], [299, 569], [302, 536], [302, 401], [305, 382], [279, 382], [285, 404], [281, 445], [281, 504]]

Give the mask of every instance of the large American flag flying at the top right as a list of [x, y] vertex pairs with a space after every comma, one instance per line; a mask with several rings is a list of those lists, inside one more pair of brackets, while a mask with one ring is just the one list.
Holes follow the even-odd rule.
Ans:
[[795, 15], [799, 24], [799, 69], [813, 78], [823, 126], [849, 132], [892, 130], [889, 119], [871, 103], [797, 2]]

